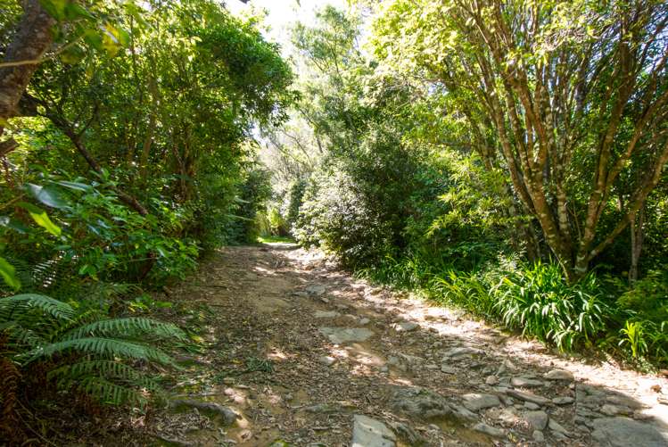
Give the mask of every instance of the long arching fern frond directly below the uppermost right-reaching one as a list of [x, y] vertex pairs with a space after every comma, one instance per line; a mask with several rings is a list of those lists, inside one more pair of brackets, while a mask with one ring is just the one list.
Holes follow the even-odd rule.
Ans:
[[75, 338], [73, 340], [47, 344], [27, 352], [25, 355], [28, 358], [26, 363], [72, 351], [92, 354], [107, 359], [118, 357], [121, 359], [156, 361], [163, 365], [173, 364], [169, 355], [160, 350], [125, 340], [101, 337]]

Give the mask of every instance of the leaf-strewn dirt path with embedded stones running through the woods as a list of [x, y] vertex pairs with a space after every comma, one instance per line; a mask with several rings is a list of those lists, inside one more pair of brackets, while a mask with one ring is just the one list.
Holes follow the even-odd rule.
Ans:
[[668, 445], [665, 378], [568, 360], [318, 253], [226, 248], [172, 294], [202, 303], [189, 319], [210, 344], [175, 391], [239, 415], [172, 411], [153, 427], [172, 442]]

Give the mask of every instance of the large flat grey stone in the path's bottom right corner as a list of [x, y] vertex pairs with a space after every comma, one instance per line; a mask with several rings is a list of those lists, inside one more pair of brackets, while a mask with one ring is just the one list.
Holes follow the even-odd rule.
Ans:
[[606, 447], [665, 447], [668, 438], [655, 427], [629, 418], [598, 418], [593, 421], [591, 435]]

